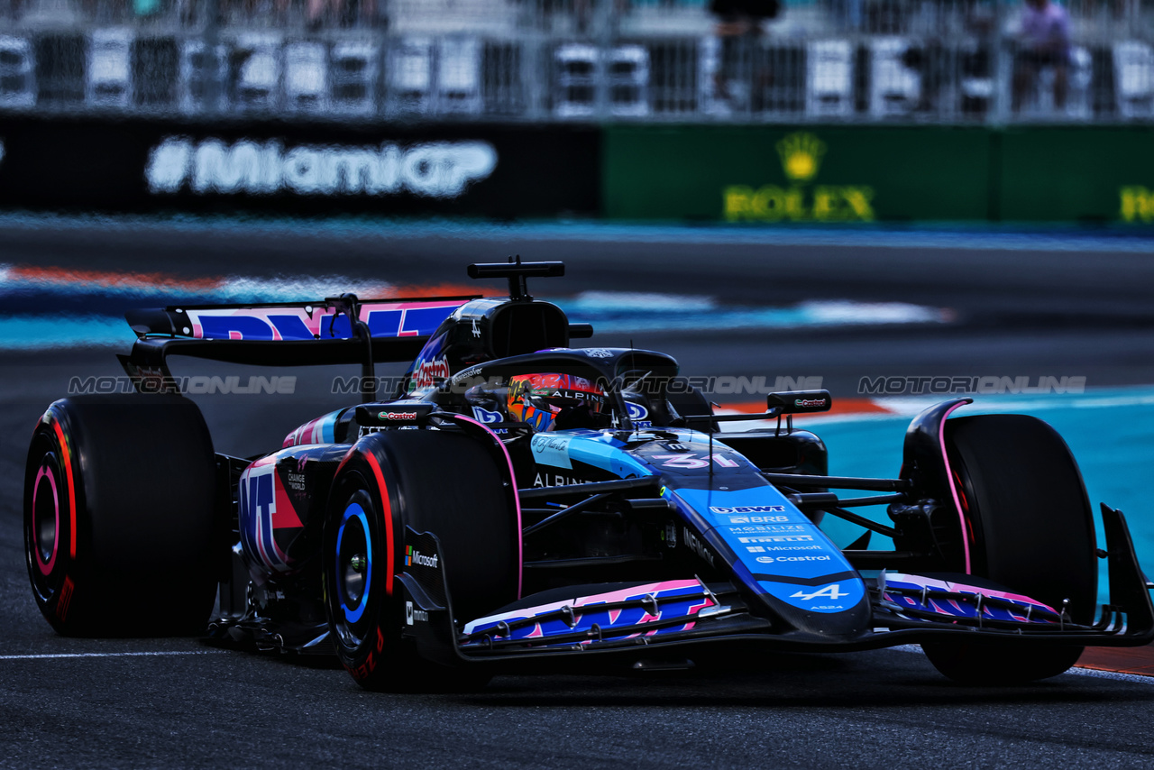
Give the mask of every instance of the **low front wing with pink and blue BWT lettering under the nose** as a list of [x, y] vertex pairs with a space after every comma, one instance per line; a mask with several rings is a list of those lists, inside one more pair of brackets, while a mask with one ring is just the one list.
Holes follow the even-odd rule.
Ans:
[[[1063, 608], [1028, 597], [920, 576], [882, 574], [867, 581], [872, 622], [860, 634], [834, 637], [797, 631], [755, 615], [729, 583], [698, 578], [634, 585], [512, 610], [458, 628], [439, 575], [410, 574], [404, 592], [406, 635], [421, 655], [449, 665], [500, 670], [565, 668], [592, 661], [688, 655], [703, 645], [757, 645], [780, 651], [848, 652], [946, 640], [1086, 646], [1131, 646], [1154, 641], [1154, 606], [1121, 511], [1102, 507], [1110, 599], [1093, 626], [1070, 622]], [[420, 537], [433, 537], [421, 533]]]

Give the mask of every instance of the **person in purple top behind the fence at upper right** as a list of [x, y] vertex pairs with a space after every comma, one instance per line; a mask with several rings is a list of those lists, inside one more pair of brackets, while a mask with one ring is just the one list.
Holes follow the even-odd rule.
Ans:
[[1051, 0], [1026, 0], [1014, 57], [1014, 112], [1037, 87], [1037, 77], [1044, 67], [1054, 68], [1054, 107], [1064, 110], [1070, 72], [1070, 16], [1065, 8]]

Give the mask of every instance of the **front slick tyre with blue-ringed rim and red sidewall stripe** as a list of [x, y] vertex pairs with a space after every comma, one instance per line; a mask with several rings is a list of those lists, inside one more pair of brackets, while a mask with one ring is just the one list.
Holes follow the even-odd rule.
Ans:
[[425, 660], [403, 635], [395, 575], [404, 570], [406, 528], [437, 537], [457, 619], [517, 598], [520, 532], [489, 450], [451, 432], [372, 434], [344, 463], [325, 521], [324, 597], [340, 661], [369, 690], [484, 686], [487, 674]]

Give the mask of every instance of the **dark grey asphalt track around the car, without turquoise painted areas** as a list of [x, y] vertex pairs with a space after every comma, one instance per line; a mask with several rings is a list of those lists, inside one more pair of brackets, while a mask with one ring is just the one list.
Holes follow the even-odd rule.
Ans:
[[[689, 241], [692, 242], [689, 242]], [[755, 239], [756, 240], [756, 239]], [[704, 241], [704, 242], [703, 242]], [[1154, 383], [1154, 254], [709, 242], [621, 242], [564, 231], [0, 222], [0, 263], [189, 277], [346, 275], [464, 283], [509, 253], [563, 259], [564, 293], [634, 289], [721, 301], [900, 300], [942, 327], [649, 332], [687, 373], [819, 375], [856, 393], [877, 374], [1084, 375]], [[1152, 249], [1154, 251], [1154, 249]], [[539, 296], [547, 296], [535, 287]], [[622, 339], [598, 339], [606, 345]], [[1148, 768], [1154, 682], [1071, 673], [960, 688], [916, 651], [755, 656], [662, 675], [501, 676], [457, 695], [380, 695], [343, 671], [223, 652], [195, 640], [69, 640], [39, 616], [20, 531], [36, 417], [112, 351], [0, 352], [0, 767]], [[307, 379], [314, 377], [314, 379]], [[202, 403], [223, 451], [279, 446], [329, 406], [320, 375], [284, 402]], [[315, 387], [314, 387], [315, 386]], [[250, 398], [250, 397], [249, 397]], [[142, 576], [163, 580], [163, 575]]]

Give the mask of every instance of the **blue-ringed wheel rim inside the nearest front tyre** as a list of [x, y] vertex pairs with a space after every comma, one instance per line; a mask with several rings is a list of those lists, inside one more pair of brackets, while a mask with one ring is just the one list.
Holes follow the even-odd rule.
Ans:
[[373, 538], [368, 514], [355, 499], [342, 515], [336, 547], [332, 577], [338, 604], [337, 631], [343, 642], [357, 646], [369, 625], [365, 608], [373, 586]]

